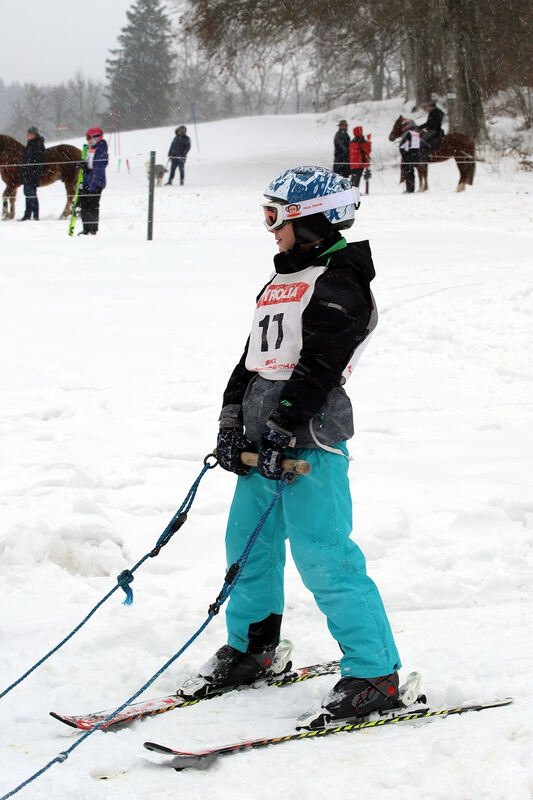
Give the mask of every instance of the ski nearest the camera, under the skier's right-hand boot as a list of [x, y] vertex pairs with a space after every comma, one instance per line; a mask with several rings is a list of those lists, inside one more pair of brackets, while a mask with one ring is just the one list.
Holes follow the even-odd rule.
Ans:
[[328, 725], [324, 728], [314, 728], [310, 730], [297, 730], [296, 733], [289, 733], [285, 736], [272, 736], [266, 739], [249, 739], [248, 741], [236, 742], [234, 744], [212, 747], [209, 750], [199, 750], [197, 752], [185, 752], [173, 750], [156, 742], [145, 742], [144, 747], [152, 753], [163, 756], [170, 756], [165, 766], [173, 767], [178, 772], [183, 769], [207, 769], [221, 755], [227, 753], [242, 753], [246, 750], [256, 750], [259, 747], [268, 747], [273, 744], [283, 744], [284, 742], [295, 742], [302, 739], [320, 739], [324, 736], [337, 733], [353, 733], [368, 728], [381, 728], [385, 725], [397, 725], [401, 722], [413, 722], [414, 720], [429, 720], [434, 717], [449, 717], [452, 714], [466, 714], [469, 711], [483, 711], [488, 708], [499, 708], [510, 705], [512, 697], [502, 700], [494, 700], [488, 703], [476, 703], [472, 705], [456, 706], [454, 708], [421, 708], [414, 711], [406, 711], [401, 714], [392, 714], [377, 719], [366, 720], [342, 720], [336, 724]]

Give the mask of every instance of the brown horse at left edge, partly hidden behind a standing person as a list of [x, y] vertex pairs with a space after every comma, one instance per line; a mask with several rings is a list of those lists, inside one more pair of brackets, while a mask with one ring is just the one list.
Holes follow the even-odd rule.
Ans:
[[[0, 177], [6, 184], [2, 195], [3, 219], [13, 219], [15, 216], [17, 189], [22, 183], [19, 178], [18, 167], [22, 161], [23, 151], [24, 145], [17, 142], [16, 139], [0, 134]], [[81, 150], [70, 144], [58, 144], [56, 147], [46, 148], [45, 165], [40, 186], [49, 186], [49, 184], [61, 180], [65, 184], [67, 191], [67, 204], [59, 219], [68, 217], [70, 213], [76, 178], [78, 177], [76, 164], [80, 161]]]

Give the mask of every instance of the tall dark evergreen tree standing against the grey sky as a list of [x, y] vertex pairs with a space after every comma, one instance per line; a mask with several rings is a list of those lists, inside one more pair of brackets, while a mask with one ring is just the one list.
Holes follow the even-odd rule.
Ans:
[[137, 0], [127, 18], [120, 48], [106, 61], [106, 97], [123, 129], [164, 125], [172, 119], [176, 89], [170, 19], [160, 0]]

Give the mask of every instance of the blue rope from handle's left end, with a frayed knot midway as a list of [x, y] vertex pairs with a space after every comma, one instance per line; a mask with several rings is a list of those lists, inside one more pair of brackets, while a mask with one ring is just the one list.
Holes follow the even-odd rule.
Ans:
[[[206, 460], [207, 460], [207, 457], [206, 457]], [[163, 533], [161, 534], [161, 536], [160, 536], [160, 537], [159, 537], [159, 539], [157, 540], [157, 542], [156, 542], [156, 545], [155, 545], [154, 549], [153, 549], [153, 550], [151, 550], [151, 551], [150, 551], [150, 553], [146, 553], [146, 555], [144, 555], [144, 556], [143, 556], [143, 557], [142, 557], [142, 558], [141, 558], [141, 559], [140, 559], [140, 560], [139, 560], [139, 561], [138, 561], [138, 562], [135, 564], [135, 566], [131, 568], [131, 570], [127, 570], [127, 569], [126, 569], [126, 570], [124, 570], [123, 572], [121, 572], [121, 573], [120, 573], [120, 575], [119, 575], [119, 576], [118, 576], [118, 578], [117, 578], [117, 585], [116, 585], [116, 586], [114, 586], [114, 587], [113, 587], [113, 588], [112, 588], [112, 589], [111, 589], [111, 590], [110, 590], [110, 591], [109, 591], [109, 592], [108, 592], [108, 593], [107, 593], [107, 594], [106, 594], [106, 595], [105, 595], [105, 596], [104, 596], [104, 597], [103, 597], [103, 598], [100, 600], [100, 602], [98, 602], [98, 603], [97, 603], [97, 604], [94, 606], [94, 608], [93, 608], [91, 611], [89, 611], [89, 613], [87, 614], [87, 616], [86, 616], [86, 617], [84, 617], [84, 618], [82, 619], [82, 621], [81, 621], [81, 622], [80, 622], [78, 625], [76, 625], [76, 627], [75, 627], [75, 628], [74, 628], [74, 629], [73, 629], [73, 630], [72, 630], [72, 631], [71, 631], [71, 632], [70, 632], [70, 633], [69, 633], [67, 636], [65, 636], [65, 638], [64, 638], [64, 639], [62, 639], [62, 640], [59, 642], [59, 644], [57, 644], [57, 645], [56, 645], [54, 648], [52, 648], [52, 650], [50, 650], [50, 651], [49, 651], [49, 652], [48, 652], [48, 653], [47, 653], [45, 656], [43, 656], [41, 659], [39, 659], [39, 661], [37, 661], [37, 662], [36, 662], [36, 663], [33, 665], [33, 667], [30, 667], [30, 669], [29, 669], [29, 670], [27, 670], [27, 671], [24, 673], [24, 675], [21, 675], [21, 676], [20, 676], [20, 678], [18, 678], [18, 679], [17, 679], [16, 681], [14, 681], [14, 682], [13, 682], [13, 683], [12, 683], [10, 686], [8, 686], [8, 687], [7, 687], [7, 689], [4, 689], [4, 691], [3, 691], [3, 692], [0, 692], [0, 700], [1, 700], [3, 697], [5, 697], [5, 696], [6, 696], [6, 694], [8, 694], [8, 693], [9, 693], [9, 692], [10, 692], [12, 689], [14, 689], [14, 688], [15, 688], [15, 686], [18, 686], [18, 685], [19, 685], [19, 683], [22, 683], [22, 681], [23, 681], [23, 680], [25, 680], [25, 679], [26, 679], [26, 678], [27, 678], [29, 675], [31, 675], [31, 673], [32, 673], [32, 672], [34, 672], [34, 671], [35, 671], [35, 670], [36, 670], [38, 667], [40, 667], [40, 666], [41, 666], [41, 664], [44, 664], [44, 662], [45, 662], [45, 661], [47, 661], [47, 659], [49, 659], [49, 658], [50, 658], [50, 656], [54, 655], [54, 653], [57, 653], [57, 651], [58, 651], [58, 650], [60, 650], [60, 649], [61, 649], [61, 647], [63, 647], [63, 645], [64, 645], [64, 644], [66, 644], [66, 643], [67, 643], [67, 642], [68, 642], [70, 639], [72, 639], [72, 637], [73, 637], [73, 636], [74, 636], [76, 633], [78, 633], [78, 631], [79, 631], [79, 630], [80, 630], [80, 629], [81, 629], [81, 628], [82, 628], [82, 627], [85, 625], [85, 623], [86, 623], [86, 622], [87, 622], [87, 621], [88, 621], [88, 620], [89, 620], [89, 619], [90, 619], [90, 618], [93, 616], [93, 614], [95, 614], [95, 613], [96, 613], [96, 611], [98, 611], [98, 609], [100, 608], [100, 606], [102, 606], [102, 605], [103, 605], [103, 604], [104, 604], [104, 603], [105, 603], [107, 600], [109, 600], [109, 598], [111, 597], [111, 595], [112, 595], [114, 592], [116, 592], [116, 590], [117, 590], [117, 589], [121, 588], [121, 589], [123, 589], [123, 590], [124, 590], [124, 592], [126, 593], [126, 598], [125, 598], [125, 600], [124, 600], [124, 605], [126, 605], [126, 606], [129, 606], [129, 605], [131, 605], [131, 604], [132, 604], [132, 602], [133, 602], [133, 591], [132, 591], [132, 589], [131, 589], [131, 586], [130, 586], [129, 584], [130, 584], [130, 583], [133, 581], [133, 573], [134, 573], [134, 572], [135, 572], [137, 569], [139, 569], [139, 567], [141, 566], [141, 564], [144, 564], [144, 562], [145, 562], [145, 561], [146, 561], [148, 558], [154, 558], [155, 556], [157, 556], [157, 555], [159, 554], [159, 551], [161, 550], [161, 548], [162, 548], [162, 547], [164, 547], [164, 545], [166, 545], [166, 544], [167, 544], [167, 543], [170, 541], [170, 539], [172, 538], [172, 536], [173, 536], [173, 535], [174, 535], [174, 534], [175, 534], [175, 533], [176, 533], [176, 532], [177, 532], [177, 531], [178, 531], [178, 530], [181, 528], [181, 526], [183, 525], [183, 523], [184, 523], [184, 522], [185, 522], [185, 520], [187, 519], [187, 513], [188, 513], [188, 511], [190, 510], [190, 508], [191, 508], [191, 506], [192, 506], [192, 504], [193, 504], [194, 498], [196, 497], [196, 492], [198, 491], [198, 486], [199, 486], [199, 484], [200, 484], [200, 481], [202, 480], [202, 478], [203, 478], [203, 476], [205, 475], [205, 473], [207, 472], [207, 470], [208, 470], [208, 469], [213, 469], [213, 467], [214, 467], [214, 466], [216, 466], [216, 464], [208, 464], [208, 463], [206, 463], [206, 461], [204, 461], [204, 467], [203, 467], [202, 471], [200, 472], [200, 474], [198, 475], [198, 477], [196, 478], [196, 480], [195, 480], [195, 481], [194, 481], [194, 483], [192, 484], [191, 488], [189, 489], [189, 491], [188, 491], [188, 493], [187, 493], [187, 496], [186, 496], [185, 500], [183, 501], [183, 503], [181, 504], [181, 506], [179, 507], [179, 509], [176, 511], [176, 513], [174, 514], [174, 516], [172, 517], [172, 519], [171, 519], [171, 520], [170, 520], [170, 522], [168, 523], [167, 527], [165, 528], [165, 530], [163, 531]]]

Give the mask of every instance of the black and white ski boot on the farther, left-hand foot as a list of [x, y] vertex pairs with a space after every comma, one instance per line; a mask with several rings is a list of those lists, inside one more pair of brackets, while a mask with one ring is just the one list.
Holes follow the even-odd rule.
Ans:
[[292, 643], [287, 639], [260, 653], [241, 653], [225, 644], [206, 661], [199, 675], [185, 681], [176, 694], [193, 700], [251, 684], [258, 678], [282, 675], [292, 666], [289, 661], [291, 651]]

